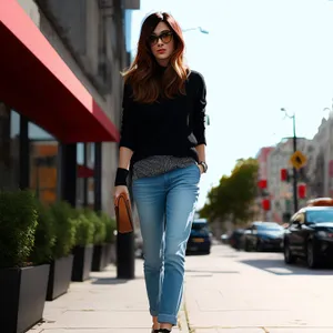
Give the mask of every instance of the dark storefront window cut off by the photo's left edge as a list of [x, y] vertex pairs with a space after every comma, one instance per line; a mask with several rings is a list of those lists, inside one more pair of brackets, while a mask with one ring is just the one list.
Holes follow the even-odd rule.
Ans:
[[0, 189], [20, 183], [20, 115], [0, 102]]

